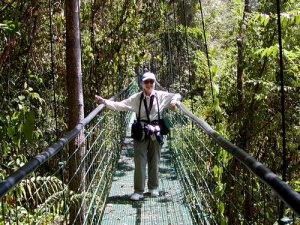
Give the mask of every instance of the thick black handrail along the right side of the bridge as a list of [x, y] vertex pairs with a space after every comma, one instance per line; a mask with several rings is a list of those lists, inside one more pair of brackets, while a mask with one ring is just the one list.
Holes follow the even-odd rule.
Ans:
[[182, 103], [177, 104], [178, 108], [192, 119], [200, 128], [207, 133], [219, 146], [231, 153], [238, 159], [249, 171], [251, 171], [262, 182], [269, 186], [284, 201], [294, 213], [300, 216], [300, 194], [294, 191], [284, 181], [282, 181], [269, 168], [257, 161], [255, 158], [246, 153], [243, 149], [235, 146], [221, 135], [219, 135], [208, 123], [199, 119]]

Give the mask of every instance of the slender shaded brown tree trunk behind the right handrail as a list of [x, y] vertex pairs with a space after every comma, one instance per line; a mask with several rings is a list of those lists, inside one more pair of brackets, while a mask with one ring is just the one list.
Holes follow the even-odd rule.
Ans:
[[[242, 149], [246, 150], [248, 146], [248, 127], [249, 127], [249, 121], [245, 115], [246, 109], [245, 109], [245, 93], [244, 93], [244, 68], [246, 66], [245, 64], [245, 32], [246, 32], [246, 25], [247, 25], [247, 19], [248, 14], [250, 13], [250, 5], [249, 0], [245, 0], [244, 2], [244, 12], [243, 12], [243, 18], [240, 23], [240, 29], [237, 36], [237, 74], [236, 74], [236, 88], [237, 88], [237, 103], [236, 103], [236, 111], [235, 111], [235, 118], [236, 118], [236, 124], [238, 124], [237, 127], [237, 137], [236, 137], [236, 144], [241, 147]], [[237, 166], [239, 165], [236, 160], [233, 160], [231, 164], [229, 165], [228, 170], [230, 171], [229, 174], [236, 177], [237, 179], [248, 179], [248, 176], [243, 177], [243, 175], [239, 175], [237, 172]], [[248, 180], [244, 180], [245, 184], [248, 184]], [[225, 183], [226, 190], [225, 192], [229, 196], [230, 202], [236, 204], [238, 208], [240, 208], [240, 191], [236, 190], [236, 181], [231, 180], [230, 176], [225, 177]], [[235, 191], [232, 191], [235, 190]], [[251, 198], [248, 191], [245, 191], [243, 193], [243, 198], [245, 199], [244, 207], [242, 211], [244, 212], [244, 219], [246, 221], [250, 220], [250, 215], [252, 215], [252, 207], [251, 202], [249, 199]], [[237, 212], [230, 209], [230, 203], [227, 202], [227, 207], [225, 211], [225, 215], [228, 217], [228, 224], [239, 224], [240, 221], [236, 219]]]

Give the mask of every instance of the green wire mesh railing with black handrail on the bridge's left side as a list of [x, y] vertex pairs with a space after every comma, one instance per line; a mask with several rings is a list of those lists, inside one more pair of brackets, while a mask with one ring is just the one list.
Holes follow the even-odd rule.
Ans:
[[[115, 96], [124, 99], [137, 90], [132, 82]], [[98, 106], [82, 123], [0, 183], [0, 224], [100, 224], [112, 174], [130, 113]], [[68, 143], [84, 130], [79, 147]], [[84, 146], [74, 174], [70, 159]], [[76, 190], [70, 183], [81, 173]], [[70, 217], [70, 211], [74, 210]]]

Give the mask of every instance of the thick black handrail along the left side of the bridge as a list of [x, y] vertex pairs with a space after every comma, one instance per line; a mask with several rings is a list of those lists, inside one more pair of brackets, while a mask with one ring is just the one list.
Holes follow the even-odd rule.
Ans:
[[[127, 91], [136, 79], [133, 79], [131, 83], [115, 94], [110, 100], [115, 99], [125, 91]], [[80, 123], [78, 123], [72, 130], [68, 131], [63, 137], [58, 139], [54, 144], [46, 148], [42, 153], [33, 157], [29, 162], [20, 167], [17, 171], [9, 175], [6, 179], [0, 182], [0, 199], [14, 188], [22, 179], [33, 173], [37, 168], [39, 168], [47, 160], [55, 156], [64, 146], [66, 146], [71, 140], [73, 140], [80, 131], [91, 122], [92, 119], [104, 108], [103, 104], [98, 105], [90, 114], [85, 117]]]

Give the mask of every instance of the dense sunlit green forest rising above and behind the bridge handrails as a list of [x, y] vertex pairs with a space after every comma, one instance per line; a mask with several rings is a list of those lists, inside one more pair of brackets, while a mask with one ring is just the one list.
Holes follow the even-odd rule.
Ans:
[[[299, 191], [300, 3], [281, 7], [286, 180]], [[1, 179], [67, 129], [64, 8], [61, 0], [0, 2]], [[145, 65], [195, 114], [281, 176], [275, 1], [207, 0], [202, 10], [210, 67], [199, 1], [82, 0], [85, 111], [95, 107], [95, 93], [112, 96]]]

